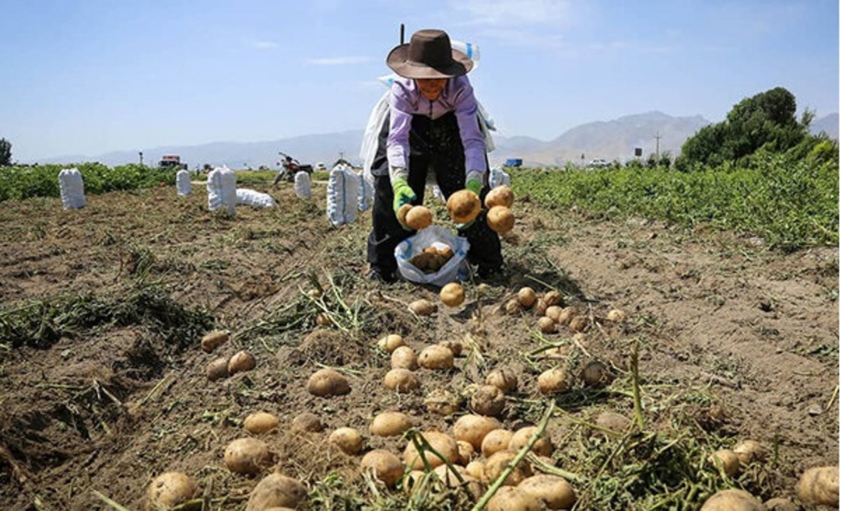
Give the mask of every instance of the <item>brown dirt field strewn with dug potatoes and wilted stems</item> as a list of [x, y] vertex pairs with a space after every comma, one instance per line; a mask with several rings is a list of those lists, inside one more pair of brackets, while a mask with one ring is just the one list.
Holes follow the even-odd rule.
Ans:
[[[201, 187], [188, 198], [170, 188], [88, 196], [74, 211], [58, 199], [3, 204], [0, 509], [113, 508], [97, 492], [141, 509], [164, 471], [194, 477], [212, 509], [244, 509], [259, 477], [232, 474], [223, 451], [248, 436], [242, 420], [258, 410], [280, 417], [280, 431], [264, 436], [277, 455], [267, 472], [305, 484], [302, 508], [389, 508], [399, 498], [366, 484], [360, 456], [328, 446], [334, 428], [357, 428], [366, 449], [400, 454], [408, 440], [368, 434], [377, 413], [399, 410], [421, 430], [449, 432], [455, 417], [431, 413], [424, 397], [461, 394], [499, 366], [519, 377], [501, 422], [538, 423], [551, 398], [536, 390], [537, 375], [554, 366], [578, 375], [593, 359], [613, 382], [593, 389], [577, 380], [553, 398], [547, 434], [554, 464], [581, 476], [578, 509], [600, 508], [611, 502], [606, 477], [636, 472], [619, 450], [597, 458], [588, 424], [605, 410], [637, 417], [635, 347], [645, 431], [681, 439], [674, 445], [692, 439], [705, 449], [688, 448], [689, 456], [711, 474], [702, 467], [712, 450], [743, 439], [765, 446], [765, 461], [720, 487], [795, 501], [802, 471], [838, 463], [838, 248], [781, 254], [734, 233], [606, 221], [519, 197], [505, 274], [467, 284], [466, 303], [448, 308], [437, 290], [363, 278], [369, 212], [336, 229], [322, 187], [309, 202], [290, 184], [262, 190], [279, 207], [239, 206], [234, 219], [211, 216]], [[440, 206], [436, 215], [444, 216]], [[306, 295], [316, 285], [322, 299]], [[532, 311], [506, 314], [525, 285], [561, 291], [564, 305], [588, 317], [584, 336], [568, 327], [542, 335]], [[407, 305], [418, 298], [439, 311], [414, 316]], [[332, 323], [319, 327], [322, 306]], [[626, 321], [607, 321], [611, 309], [626, 311]], [[200, 339], [214, 328], [232, 338], [206, 354]], [[382, 385], [390, 362], [376, 340], [387, 333], [416, 352], [458, 340], [463, 354], [455, 370], [418, 370], [422, 388], [398, 394]], [[546, 356], [548, 343], [563, 356]], [[240, 349], [254, 354], [254, 370], [206, 380], [212, 359]], [[306, 391], [325, 366], [349, 378], [348, 395]], [[290, 429], [306, 412], [322, 433]], [[707, 496], [711, 479], [700, 481], [687, 508]], [[641, 492], [639, 508], [654, 505], [639, 488], [616, 491], [616, 499]]]

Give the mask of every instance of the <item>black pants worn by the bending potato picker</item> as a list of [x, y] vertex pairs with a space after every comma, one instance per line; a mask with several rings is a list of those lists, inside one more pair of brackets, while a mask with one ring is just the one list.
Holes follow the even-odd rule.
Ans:
[[[390, 279], [397, 272], [395, 248], [415, 231], [407, 231], [397, 221], [392, 208], [394, 194], [389, 179], [389, 162], [386, 158], [386, 137], [389, 134], [389, 117], [381, 128], [377, 153], [371, 164], [375, 178], [375, 198], [372, 208], [372, 229], [368, 238], [368, 261], [371, 269]], [[487, 162], [488, 164], [488, 162]], [[424, 203], [427, 173], [433, 172], [445, 199], [465, 188], [465, 149], [459, 136], [456, 114], [450, 112], [431, 120], [424, 115], [414, 115], [409, 131], [409, 186], [415, 192], [413, 205]], [[482, 189], [480, 199], [485, 199], [488, 185]], [[500, 238], [485, 221], [485, 210], [471, 226], [459, 232], [467, 238], [468, 262], [479, 266], [480, 274], [497, 271], [503, 266]]]

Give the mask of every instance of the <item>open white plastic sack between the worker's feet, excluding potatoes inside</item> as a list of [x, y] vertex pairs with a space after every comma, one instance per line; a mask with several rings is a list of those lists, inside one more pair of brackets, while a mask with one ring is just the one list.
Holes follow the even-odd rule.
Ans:
[[[409, 262], [409, 259], [423, 252], [424, 248], [431, 246], [444, 248], [444, 245], [453, 250], [453, 257], [433, 274], [425, 274]], [[471, 248], [471, 243], [465, 237], [456, 236], [442, 226], [429, 226], [397, 244], [395, 248], [397, 270], [404, 279], [418, 284], [431, 284], [441, 287], [450, 282], [456, 282], [456, 280], [465, 280], [468, 278], [466, 259], [468, 248]]]

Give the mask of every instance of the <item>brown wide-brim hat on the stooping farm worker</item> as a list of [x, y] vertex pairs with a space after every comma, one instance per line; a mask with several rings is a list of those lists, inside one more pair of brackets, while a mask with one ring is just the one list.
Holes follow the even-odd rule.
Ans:
[[471, 71], [473, 61], [454, 50], [443, 30], [418, 30], [408, 45], [397, 45], [386, 65], [405, 78], [452, 78]]

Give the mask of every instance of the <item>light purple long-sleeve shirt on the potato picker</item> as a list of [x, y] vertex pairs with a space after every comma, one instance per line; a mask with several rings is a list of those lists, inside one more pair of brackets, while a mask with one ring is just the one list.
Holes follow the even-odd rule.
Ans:
[[434, 101], [424, 98], [412, 78], [397, 78], [389, 95], [389, 136], [386, 157], [390, 167], [408, 168], [409, 130], [413, 115], [436, 120], [448, 112], [456, 113], [462, 146], [465, 147], [465, 172], [488, 171], [485, 164], [485, 139], [477, 121], [477, 98], [466, 76], [450, 78]]

